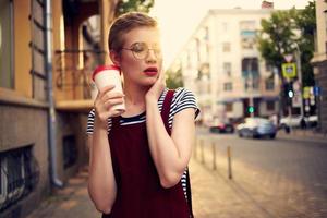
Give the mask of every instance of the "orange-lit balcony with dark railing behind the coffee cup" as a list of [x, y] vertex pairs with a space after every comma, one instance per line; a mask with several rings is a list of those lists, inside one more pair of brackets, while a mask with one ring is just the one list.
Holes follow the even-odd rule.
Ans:
[[93, 108], [96, 87], [93, 70], [104, 63], [102, 50], [56, 50], [53, 60], [53, 89], [56, 109], [87, 112]]

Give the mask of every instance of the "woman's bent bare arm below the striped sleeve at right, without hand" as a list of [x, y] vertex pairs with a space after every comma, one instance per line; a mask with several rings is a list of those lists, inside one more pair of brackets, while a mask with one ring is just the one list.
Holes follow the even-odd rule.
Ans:
[[155, 98], [146, 100], [149, 148], [164, 187], [175, 185], [189, 164], [195, 134], [194, 113], [193, 108], [178, 112], [173, 118], [171, 136], [169, 136], [157, 100]]

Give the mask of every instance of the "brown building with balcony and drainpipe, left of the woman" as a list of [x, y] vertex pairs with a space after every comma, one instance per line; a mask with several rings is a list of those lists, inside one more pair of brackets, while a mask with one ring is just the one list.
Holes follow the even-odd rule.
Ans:
[[87, 165], [89, 74], [110, 0], [0, 1], [0, 214], [26, 217]]

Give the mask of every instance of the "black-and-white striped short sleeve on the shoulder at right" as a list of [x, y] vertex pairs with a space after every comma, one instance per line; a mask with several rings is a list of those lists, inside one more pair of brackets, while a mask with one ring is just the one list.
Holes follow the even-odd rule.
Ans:
[[186, 88], [178, 88], [175, 89], [175, 94], [171, 105], [171, 113], [174, 116], [175, 113], [186, 109], [193, 108], [195, 109], [195, 118], [199, 113], [199, 108], [196, 104], [196, 99], [194, 94]]

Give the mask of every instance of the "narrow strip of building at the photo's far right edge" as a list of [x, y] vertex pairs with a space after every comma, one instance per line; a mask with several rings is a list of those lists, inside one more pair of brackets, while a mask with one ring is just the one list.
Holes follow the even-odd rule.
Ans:
[[312, 60], [318, 96], [319, 130], [327, 133], [327, 1], [316, 0], [317, 34], [315, 53]]

